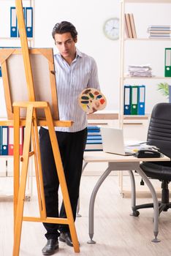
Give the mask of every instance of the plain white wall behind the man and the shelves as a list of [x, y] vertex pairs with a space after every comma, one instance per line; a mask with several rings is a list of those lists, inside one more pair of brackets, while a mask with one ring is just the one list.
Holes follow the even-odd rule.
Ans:
[[[8, 2], [14, 3], [14, 1]], [[171, 4], [129, 4], [126, 12], [134, 13], [137, 35], [148, 37], [146, 32], [148, 25], [170, 24]], [[119, 40], [107, 39], [102, 30], [104, 21], [111, 17], [119, 17], [118, 0], [36, 0], [34, 34], [35, 47], [55, 47], [51, 37], [53, 26], [62, 20], [72, 22], [78, 31], [77, 48], [96, 59], [101, 89], [107, 97], [107, 110], [117, 110]], [[3, 26], [6, 26], [9, 31], [9, 23], [4, 22]], [[155, 75], [164, 75], [165, 47], [171, 47], [170, 42], [126, 42], [126, 67], [128, 64], [151, 63]], [[137, 83], [137, 80], [133, 80], [132, 83]], [[166, 101], [159, 91], [156, 91], [158, 81], [140, 80], [140, 83], [147, 85], [147, 112], [151, 111], [156, 102]], [[4, 116], [4, 99], [2, 99], [1, 90], [0, 83], [0, 116]]]

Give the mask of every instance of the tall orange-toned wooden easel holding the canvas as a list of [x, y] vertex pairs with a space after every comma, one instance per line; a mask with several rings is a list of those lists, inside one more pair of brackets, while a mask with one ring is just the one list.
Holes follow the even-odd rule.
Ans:
[[[66, 180], [64, 176], [64, 170], [61, 162], [61, 156], [58, 149], [58, 142], [56, 139], [56, 132], [54, 130], [54, 121], [50, 113], [50, 106], [47, 102], [36, 102], [34, 95], [34, 84], [31, 72], [31, 63], [28, 53], [28, 42], [26, 37], [26, 29], [23, 19], [23, 6], [22, 0], [15, 0], [16, 12], [18, 17], [18, 27], [20, 31], [20, 42], [23, 52], [23, 61], [26, 73], [26, 82], [28, 86], [29, 102], [15, 102], [14, 108], [14, 222], [15, 222], [15, 236], [13, 246], [13, 256], [18, 256], [20, 251], [20, 235], [22, 230], [23, 220], [31, 222], [48, 222], [69, 225], [69, 230], [72, 236], [73, 246], [75, 252], [80, 252], [79, 243], [77, 241], [77, 233], [75, 230], [75, 223], [72, 215], [72, 208], [69, 201], [69, 194], [66, 187]], [[22, 168], [20, 175], [20, 157], [19, 157], [19, 127], [23, 124], [20, 118], [20, 109], [26, 108], [26, 132], [23, 145], [23, 157]], [[36, 110], [42, 108], [45, 111], [45, 120], [38, 121]], [[66, 219], [52, 218], [46, 216], [45, 210], [45, 195], [42, 180], [42, 165], [40, 160], [39, 151], [39, 138], [37, 127], [38, 125], [46, 125], [50, 133], [50, 141], [53, 148], [53, 155], [56, 162], [56, 169], [58, 173], [58, 179], [61, 186], [61, 192], [63, 195], [64, 206], [66, 209]], [[71, 121], [62, 122], [56, 121], [57, 126], [69, 126]], [[32, 140], [34, 151], [29, 152], [30, 142]], [[34, 154], [35, 171], [37, 179], [37, 192], [39, 201], [39, 214], [40, 217], [23, 217], [23, 204], [26, 192], [26, 178], [28, 173], [28, 159]]]

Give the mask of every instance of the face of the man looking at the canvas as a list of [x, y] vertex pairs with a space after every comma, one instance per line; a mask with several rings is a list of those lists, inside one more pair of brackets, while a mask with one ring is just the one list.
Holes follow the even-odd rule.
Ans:
[[77, 39], [72, 38], [71, 33], [67, 32], [64, 34], [55, 34], [56, 46], [64, 59], [75, 58], [75, 43]]

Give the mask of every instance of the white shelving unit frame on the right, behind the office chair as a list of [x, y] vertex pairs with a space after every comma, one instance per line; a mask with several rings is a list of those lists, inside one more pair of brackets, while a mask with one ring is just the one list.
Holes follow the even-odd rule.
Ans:
[[[147, 5], [148, 8], [148, 4], [171, 4], [170, 0], [120, 0], [120, 86], [119, 86], [119, 94], [120, 94], [120, 102], [119, 102], [119, 113], [118, 113], [118, 119], [119, 119], [119, 127], [123, 128], [123, 124], [124, 124], [124, 120], [126, 118], [149, 118], [151, 113], [147, 113], [145, 114], [145, 116], [124, 116], [123, 115], [123, 86], [124, 84], [126, 84], [126, 80], [129, 81], [129, 83], [131, 83], [131, 80], [136, 80], [138, 83], [138, 80], [142, 81], [152, 81], [152, 80], [166, 80], [168, 81], [169, 84], [171, 84], [171, 78], [166, 78], [164, 76], [161, 75], [157, 75], [153, 76], [152, 78], [141, 78], [141, 77], [129, 77], [128, 75], [125, 75], [126, 73], [126, 64], [125, 64], [125, 58], [126, 58], [126, 47], [130, 47], [130, 45], [132, 45], [132, 43], [134, 42], [134, 44], [139, 44], [141, 42], [141, 45], [143, 44], [143, 42], [145, 42], [145, 45], [148, 42], [152, 42], [153, 45], [156, 45], [156, 42], [171, 42], [171, 39], [168, 38], [155, 38], [155, 39], [151, 39], [151, 38], [144, 38], [144, 37], [137, 37], [137, 38], [125, 38], [125, 17], [124, 14], [126, 13], [126, 7], [127, 4], [145, 4]], [[155, 11], [155, 10], [153, 10]], [[142, 18], [145, 18], [145, 15], [143, 15], [142, 13]], [[153, 20], [151, 20], [152, 22]], [[159, 20], [159, 23], [161, 23], [162, 20]], [[159, 25], [159, 23], [157, 25]], [[150, 24], [149, 24], [150, 25]], [[163, 23], [161, 23], [161, 25], [164, 25]], [[135, 28], [136, 28], [136, 20], [135, 20]], [[137, 29], [136, 29], [137, 30]], [[129, 42], [129, 45], [127, 45], [127, 42]], [[134, 47], [134, 45], [133, 45]], [[157, 58], [157, 57], [156, 57]], [[139, 60], [141, 61], [141, 60]], [[132, 63], [130, 63], [132, 64]], [[140, 63], [141, 64], [141, 63]], [[142, 82], [140, 82], [142, 83]], [[148, 86], [146, 86], [146, 91], [148, 91]], [[120, 176], [119, 176], [119, 185], [121, 188], [121, 193], [125, 194], [126, 191], [123, 190], [123, 174], [120, 172]]]

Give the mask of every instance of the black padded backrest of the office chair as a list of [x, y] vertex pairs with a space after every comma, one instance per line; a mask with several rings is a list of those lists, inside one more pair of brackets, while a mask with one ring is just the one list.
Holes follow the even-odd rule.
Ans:
[[153, 107], [147, 140], [171, 157], [171, 103], [161, 102]]

